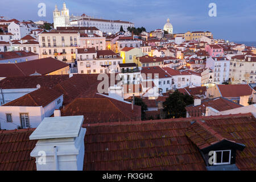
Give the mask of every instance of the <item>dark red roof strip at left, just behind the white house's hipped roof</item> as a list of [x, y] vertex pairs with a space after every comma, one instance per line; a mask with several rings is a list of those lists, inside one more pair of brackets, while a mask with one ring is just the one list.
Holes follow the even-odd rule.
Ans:
[[36, 85], [41, 87], [53, 88], [56, 84], [67, 80], [68, 75], [39, 75], [39, 76], [18, 76], [7, 77], [0, 81], [2, 89], [24, 89], [36, 88]]

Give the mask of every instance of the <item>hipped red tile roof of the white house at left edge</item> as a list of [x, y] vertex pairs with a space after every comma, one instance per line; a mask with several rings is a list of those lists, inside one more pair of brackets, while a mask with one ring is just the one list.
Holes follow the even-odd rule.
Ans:
[[49, 88], [40, 88], [2, 106], [47, 106], [62, 93]]

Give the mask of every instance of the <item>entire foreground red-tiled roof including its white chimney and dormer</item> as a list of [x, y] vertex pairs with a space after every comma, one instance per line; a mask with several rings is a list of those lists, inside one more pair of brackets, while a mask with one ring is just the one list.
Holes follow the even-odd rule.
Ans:
[[[81, 117], [48, 118], [42, 122], [44, 127], [36, 130], [0, 130], [0, 170], [42, 170], [42, 166], [44, 170], [55, 170], [57, 166], [59, 170], [85, 171], [255, 170], [256, 122], [251, 113], [88, 123], [82, 127], [82, 120], [86, 118], [81, 118], [81, 121], [77, 118]], [[65, 125], [61, 129], [52, 127], [63, 125], [63, 122]], [[52, 130], [45, 131], [46, 126]], [[76, 146], [84, 146], [85, 150], [69, 154], [65, 148], [66, 152], [61, 155], [63, 160], [56, 166], [48, 160], [53, 153], [46, 153], [46, 164], [36, 166], [35, 158], [38, 160], [39, 156], [34, 155], [32, 150], [42, 150], [40, 140], [46, 141], [44, 150], [51, 148], [53, 151], [51, 146], [55, 142], [58, 152], [61, 152], [63, 148], [59, 144], [67, 138], [76, 141]], [[69, 150], [75, 148], [72, 142], [68, 145]], [[213, 151], [212, 154], [209, 154], [210, 151]], [[75, 166], [67, 160], [73, 155]], [[217, 155], [216, 159], [211, 160], [213, 155]]]

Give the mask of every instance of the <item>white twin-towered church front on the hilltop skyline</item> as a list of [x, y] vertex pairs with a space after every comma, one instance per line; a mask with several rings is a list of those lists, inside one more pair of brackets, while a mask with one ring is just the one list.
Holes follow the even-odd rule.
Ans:
[[69, 10], [66, 7], [65, 2], [63, 3], [63, 9], [59, 11], [57, 5], [53, 11], [53, 24], [56, 27], [68, 27], [69, 26]]

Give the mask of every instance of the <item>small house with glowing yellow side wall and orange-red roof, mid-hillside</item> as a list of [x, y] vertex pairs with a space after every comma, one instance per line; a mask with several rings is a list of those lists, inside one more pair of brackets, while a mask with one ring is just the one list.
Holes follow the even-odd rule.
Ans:
[[123, 63], [134, 63], [134, 57], [143, 56], [141, 48], [125, 47], [120, 51], [120, 56], [123, 59]]

